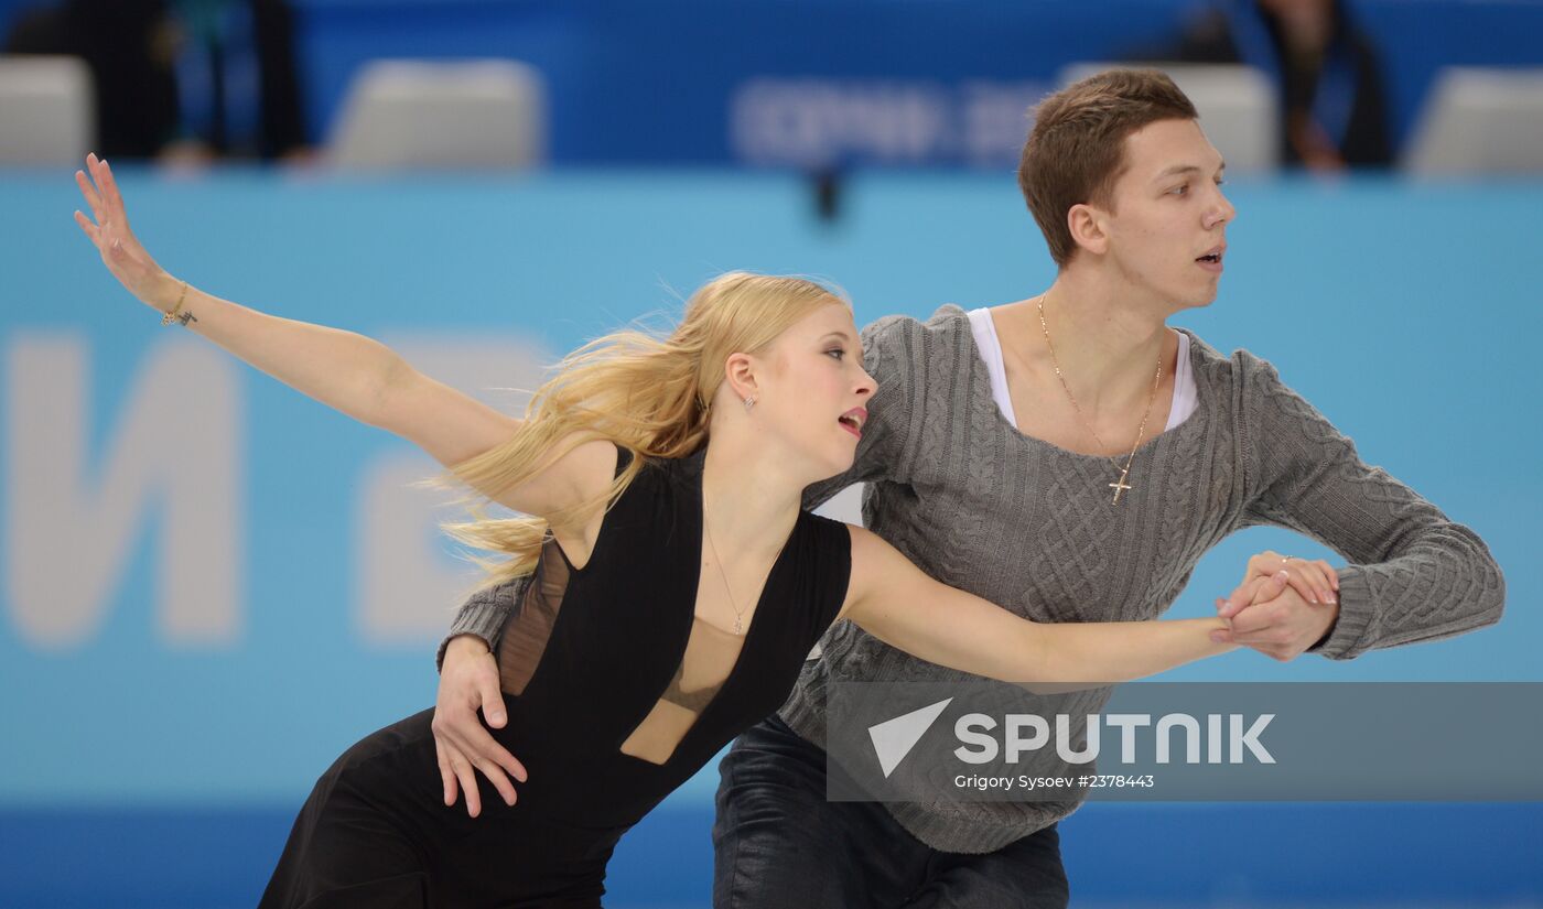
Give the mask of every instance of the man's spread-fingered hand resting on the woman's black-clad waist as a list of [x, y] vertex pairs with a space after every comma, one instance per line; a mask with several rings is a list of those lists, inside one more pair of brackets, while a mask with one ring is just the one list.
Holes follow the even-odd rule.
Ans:
[[[525, 782], [525, 765], [500, 745], [477, 719], [483, 710], [488, 725], [503, 728], [503, 691], [498, 688], [498, 662], [488, 645], [472, 634], [451, 640], [440, 670], [440, 696], [434, 705], [434, 748], [444, 782], [444, 804], [454, 806], [457, 790], [466, 793], [466, 813], [481, 813], [477, 770], [481, 770], [503, 801], [514, 804], [514, 784]], [[506, 775], [508, 773], [508, 775]]]

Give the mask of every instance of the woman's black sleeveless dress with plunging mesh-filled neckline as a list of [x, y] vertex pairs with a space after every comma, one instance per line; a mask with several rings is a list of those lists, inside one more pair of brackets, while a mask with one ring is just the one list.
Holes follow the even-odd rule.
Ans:
[[497, 645], [514, 807], [480, 775], [481, 816], [446, 807], [410, 716], [321, 776], [262, 909], [600, 904], [620, 835], [782, 705], [846, 599], [847, 528], [801, 512], [742, 637], [694, 617], [704, 455], [645, 465], [583, 568], [543, 549]]

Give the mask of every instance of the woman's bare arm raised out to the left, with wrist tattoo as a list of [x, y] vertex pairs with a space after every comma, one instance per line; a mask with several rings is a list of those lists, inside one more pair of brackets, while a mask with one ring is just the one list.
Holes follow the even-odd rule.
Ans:
[[[76, 222], [113, 276], [156, 312], [174, 315], [187, 329], [322, 404], [415, 443], [444, 466], [520, 431], [520, 420], [420, 373], [380, 341], [267, 315], [173, 278], [130, 230], [108, 164], [93, 154], [86, 170], [89, 176], [76, 171], [76, 182], [93, 218], [76, 211]], [[554, 455], [568, 448], [555, 444]], [[614, 463], [609, 443], [586, 443], [518, 488], [481, 492], [515, 511], [548, 515], [596, 495]]]

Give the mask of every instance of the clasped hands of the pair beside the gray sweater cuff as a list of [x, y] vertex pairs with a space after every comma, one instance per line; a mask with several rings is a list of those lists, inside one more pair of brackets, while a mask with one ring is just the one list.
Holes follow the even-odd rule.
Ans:
[[[1279, 574], [1285, 574], [1287, 585], [1270, 596], [1264, 582]], [[1339, 577], [1324, 562], [1261, 552], [1248, 560], [1244, 583], [1227, 599], [1216, 600], [1216, 614], [1231, 619], [1233, 627], [1214, 631], [1211, 639], [1250, 647], [1281, 662], [1296, 659], [1335, 627], [1339, 597], [1333, 591], [1338, 588]]]

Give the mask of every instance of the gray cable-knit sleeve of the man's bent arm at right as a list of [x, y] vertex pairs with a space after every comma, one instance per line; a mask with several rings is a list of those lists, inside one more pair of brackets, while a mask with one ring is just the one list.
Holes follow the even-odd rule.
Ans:
[[1313, 650], [1350, 659], [1500, 620], [1504, 577], [1478, 534], [1449, 520], [1352, 443], [1275, 367], [1248, 352], [1239, 373], [1245, 525], [1284, 526], [1339, 552], [1339, 619]]

